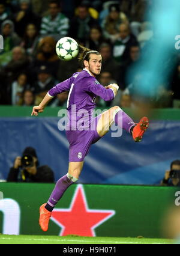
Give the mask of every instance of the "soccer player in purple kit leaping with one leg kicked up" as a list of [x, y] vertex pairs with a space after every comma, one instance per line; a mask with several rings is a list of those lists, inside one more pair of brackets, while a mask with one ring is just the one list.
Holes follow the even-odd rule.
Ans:
[[[31, 114], [37, 116], [38, 113], [44, 111], [45, 106], [53, 97], [63, 91], [69, 91], [67, 100], [69, 120], [68, 129], [66, 129], [70, 144], [68, 173], [57, 181], [47, 204], [40, 207], [39, 223], [43, 231], [48, 230], [52, 210], [65, 190], [78, 180], [89, 148], [108, 132], [113, 122], [127, 130], [136, 142], [141, 141], [143, 133], [149, 126], [147, 117], [143, 117], [138, 124], [135, 124], [119, 106], [113, 106], [97, 117], [93, 117], [95, 97], [100, 96], [107, 101], [113, 100], [119, 87], [116, 84], [110, 84], [104, 88], [103, 85], [98, 83], [95, 77], [101, 72], [101, 54], [95, 50], [81, 48], [82, 53], [79, 55], [79, 61], [83, 66], [82, 72], [74, 73], [71, 78], [53, 87], [40, 105], [34, 106]], [[85, 113], [83, 117], [79, 117], [79, 114], [77, 114], [79, 111]]]

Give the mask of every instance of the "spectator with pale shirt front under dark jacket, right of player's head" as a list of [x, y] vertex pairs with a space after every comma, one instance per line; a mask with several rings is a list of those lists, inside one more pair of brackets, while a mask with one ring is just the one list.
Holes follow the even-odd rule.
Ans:
[[138, 44], [136, 37], [131, 34], [130, 27], [126, 23], [119, 25], [119, 38], [115, 41], [113, 47], [113, 56], [119, 63], [129, 60], [130, 47]]

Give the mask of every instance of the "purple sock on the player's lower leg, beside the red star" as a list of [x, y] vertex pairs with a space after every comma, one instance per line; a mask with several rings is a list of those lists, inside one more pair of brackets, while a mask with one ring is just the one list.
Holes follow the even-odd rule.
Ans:
[[53, 192], [47, 202], [47, 205], [45, 206], [45, 208], [49, 210], [49, 212], [52, 212], [53, 208], [61, 199], [65, 190], [67, 190], [67, 188], [73, 183], [74, 182], [71, 180], [71, 178], [67, 177], [67, 174], [57, 181], [56, 186], [53, 189]]

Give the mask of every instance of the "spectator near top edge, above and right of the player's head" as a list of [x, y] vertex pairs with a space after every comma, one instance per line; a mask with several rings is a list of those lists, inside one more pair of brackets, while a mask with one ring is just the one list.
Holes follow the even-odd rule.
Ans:
[[104, 19], [102, 23], [104, 37], [110, 39], [114, 43], [119, 38], [119, 25], [121, 23], [127, 23], [128, 19], [124, 15], [120, 15], [119, 4], [112, 4], [109, 7], [109, 15]]

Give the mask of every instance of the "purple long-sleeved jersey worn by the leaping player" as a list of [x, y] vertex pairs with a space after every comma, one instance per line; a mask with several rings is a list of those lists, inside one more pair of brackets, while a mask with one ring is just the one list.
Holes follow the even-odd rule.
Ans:
[[[95, 97], [109, 101], [113, 100], [115, 94], [113, 90], [106, 89], [103, 85], [91, 76], [88, 70], [74, 73], [71, 78], [61, 82], [49, 91], [49, 96], [55, 97], [58, 93], [69, 91], [67, 100], [67, 110], [70, 114], [70, 126], [74, 127], [77, 122], [83, 122], [83, 127], [91, 124], [93, 111], [95, 109]], [[81, 119], [81, 120], [80, 120]]]

